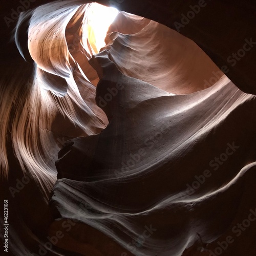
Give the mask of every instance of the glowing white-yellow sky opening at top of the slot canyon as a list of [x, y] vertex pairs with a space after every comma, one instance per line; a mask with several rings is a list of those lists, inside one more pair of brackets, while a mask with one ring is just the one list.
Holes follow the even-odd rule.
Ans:
[[106, 33], [119, 11], [113, 7], [106, 7], [97, 3], [91, 4], [87, 16], [87, 33], [90, 45], [95, 53], [105, 46]]

